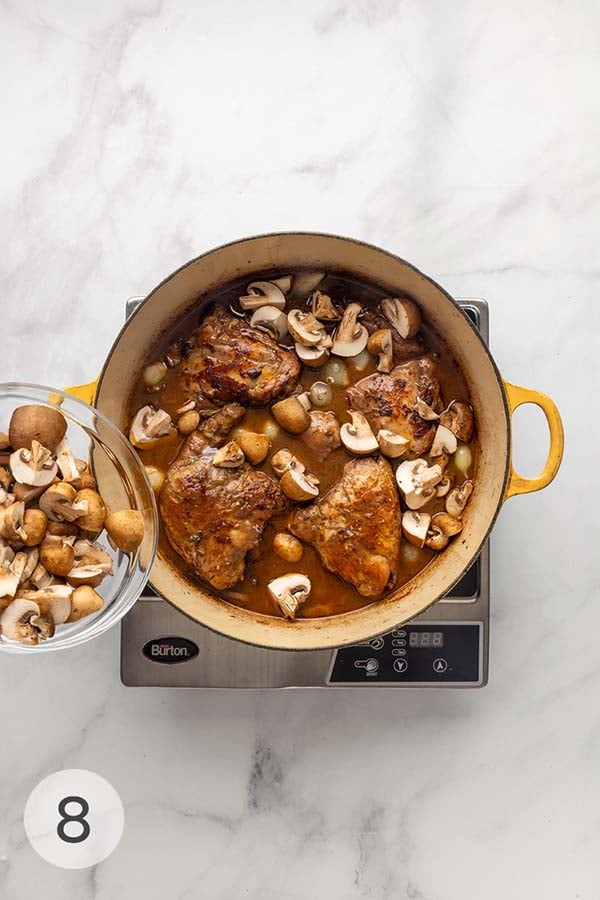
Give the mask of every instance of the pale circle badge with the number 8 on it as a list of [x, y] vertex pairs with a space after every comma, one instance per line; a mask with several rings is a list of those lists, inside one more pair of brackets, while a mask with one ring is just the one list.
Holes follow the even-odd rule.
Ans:
[[33, 789], [23, 816], [29, 843], [62, 869], [87, 869], [109, 856], [123, 834], [121, 798], [87, 769], [63, 769]]

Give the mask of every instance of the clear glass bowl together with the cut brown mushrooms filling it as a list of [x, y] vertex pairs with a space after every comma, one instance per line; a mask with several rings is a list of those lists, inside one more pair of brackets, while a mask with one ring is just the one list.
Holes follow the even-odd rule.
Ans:
[[144, 589], [154, 491], [118, 428], [66, 392], [0, 384], [0, 430], [0, 651], [75, 647]]

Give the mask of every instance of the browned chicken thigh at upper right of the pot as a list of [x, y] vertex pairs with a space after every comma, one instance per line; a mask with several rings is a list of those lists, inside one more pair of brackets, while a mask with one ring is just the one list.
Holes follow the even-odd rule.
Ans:
[[389, 375], [376, 372], [357, 381], [346, 391], [351, 409], [366, 416], [374, 434], [387, 428], [410, 441], [410, 456], [430, 449], [436, 422], [426, 422], [415, 412], [424, 400], [436, 412], [442, 410], [440, 383], [431, 357], [396, 366]]

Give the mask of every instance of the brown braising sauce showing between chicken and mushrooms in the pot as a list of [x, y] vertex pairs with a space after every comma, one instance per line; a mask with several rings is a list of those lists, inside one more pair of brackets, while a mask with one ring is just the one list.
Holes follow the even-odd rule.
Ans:
[[[281, 273], [287, 274], [287, 273]], [[257, 278], [276, 278], [277, 273], [269, 275], [258, 275]], [[210, 298], [202, 298], [201, 308], [193, 308], [183, 317], [177, 325], [159, 337], [153, 347], [148, 348], [147, 364], [155, 362], [158, 359], [165, 359], [169, 354], [169, 349], [173, 346], [177, 339], [187, 339], [194, 334], [201, 319], [211, 308], [212, 303], [222, 303], [226, 307], [230, 304], [236, 304], [237, 298], [246, 293], [246, 285], [251, 279], [245, 279], [243, 282], [230, 284]], [[350, 279], [345, 276], [328, 275], [318, 288], [320, 291], [329, 294], [334, 301], [349, 302], [358, 301], [363, 305], [376, 307], [379, 301], [390, 296], [389, 292], [383, 292], [373, 285], [366, 285]], [[299, 306], [305, 308], [306, 301], [292, 301], [286, 306], [286, 312], [290, 308]], [[442, 389], [442, 397], [445, 404], [452, 400], [463, 400], [469, 402], [469, 392], [461, 372], [445, 347], [441, 338], [434, 334], [426, 324], [422, 325], [420, 335], [423, 337], [427, 352], [434, 354], [436, 358], [437, 377]], [[377, 371], [377, 360], [374, 357], [368, 357], [366, 351], [356, 359], [345, 359], [343, 362], [347, 366], [350, 384], [354, 384], [361, 378]], [[336, 357], [330, 356], [330, 361]], [[404, 361], [404, 360], [403, 360]], [[357, 368], [357, 363], [360, 369]], [[304, 390], [310, 388], [315, 381], [323, 381], [323, 368], [310, 369], [303, 367], [300, 383]], [[344, 387], [333, 386], [333, 402], [324, 407], [331, 409], [338, 417], [340, 424], [350, 422], [351, 418], [347, 411], [347, 402], [345, 392], [348, 385]], [[177, 410], [189, 399], [189, 395], [185, 392], [180, 367], [175, 366], [167, 370], [163, 383], [158, 391], [149, 391], [145, 384], [142, 373], [137, 382], [137, 386], [131, 398], [130, 412], [131, 418], [143, 406], [152, 404], [155, 407], [168, 412], [173, 421], [177, 421]], [[316, 409], [316, 407], [314, 407]], [[274, 424], [268, 407], [248, 407], [243, 419], [241, 427], [248, 431], [265, 432], [268, 430], [269, 424]], [[235, 431], [230, 435], [230, 439], [235, 438]], [[170, 463], [177, 456], [184, 437], [177, 432], [172, 437], [160, 441], [156, 446], [146, 450], [138, 450], [143, 463], [146, 466], [155, 466], [162, 472], [166, 472]], [[278, 430], [277, 435], [272, 439], [272, 446], [267, 459], [257, 468], [262, 469], [269, 476], [276, 479], [276, 475], [269, 463], [270, 457], [279, 449], [287, 447], [297, 456], [306, 466], [307, 472], [316, 475], [320, 481], [320, 497], [323, 497], [329, 488], [341, 477], [344, 465], [351, 459], [356, 459], [351, 453], [343, 447], [334, 450], [324, 461], [320, 460], [302, 440], [301, 435], [292, 435]], [[473, 455], [473, 465], [471, 472], [476, 466], [477, 458], [477, 439], [472, 440], [471, 451]], [[395, 468], [394, 460], [390, 461]], [[464, 475], [459, 472], [453, 460], [450, 460], [446, 474], [454, 476], [454, 484], [461, 484]], [[303, 544], [304, 553], [300, 562], [290, 563], [283, 560], [273, 549], [273, 538], [279, 531], [287, 531], [287, 521], [290, 518], [291, 511], [296, 504], [290, 502], [291, 510], [281, 516], [273, 518], [265, 528], [259, 546], [255, 551], [248, 554], [246, 573], [243, 581], [239, 582], [235, 588], [227, 591], [215, 591], [210, 585], [206, 585], [198, 579], [198, 576], [186, 565], [179, 555], [170, 546], [164, 528], [161, 525], [161, 533], [159, 540], [159, 553], [164, 558], [168, 558], [173, 565], [185, 572], [187, 577], [199, 584], [204, 584], [213, 593], [219, 594], [225, 601], [245, 609], [263, 613], [266, 615], [281, 616], [279, 607], [271, 598], [267, 590], [267, 583], [279, 575], [287, 572], [302, 572], [307, 575], [312, 583], [312, 590], [309, 598], [300, 607], [298, 617], [320, 617], [331, 616], [339, 613], [348, 612], [367, 606], [377, 600], [361, 596], [356, 589], [340, 579], [337, 575], [329, 572], [324, 568], [317, 551]], [[444, 508], [444, 500], [440, 499], [435, 505], [427, 506], [428, 512], [442, 511]], [[400, 548], [400, 568], [396, 586], [400, 586], [409, 581], [414, 575], [420, 572], [427, 563], [435, 556], [433, 550], [427, 548], [419, 549], [410, 544], [405, 538], [402, 539]], [[380, 598], [379, 598], [380, 599]]]

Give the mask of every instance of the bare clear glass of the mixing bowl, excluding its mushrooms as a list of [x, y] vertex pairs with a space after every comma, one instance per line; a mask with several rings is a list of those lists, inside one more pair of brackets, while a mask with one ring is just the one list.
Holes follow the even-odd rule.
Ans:
[[[79, 622], [58, 625], [53, 637], [35, 646], [0, 636], [0, 651], [8, 653], [44, 653], [76, 647], [112, 628], [131, 609], [150, 575], [158, 540], [158, 514], [154, 491], [146, 470], [127, 438], [102, 413], [64, 391], [36, 384], [10, 382], [0, 384], [0, 431], [8, 432], [8, 423], [17, 406], [27, 404], [59, 409], [67, 420], [67, 438], [73, 455], [86, 460], [110, 511], [137, 509], [144, 517], [144, 539], [135, 553], [114, 550], [106, 532], [98, 543], [110, 553], [114, 574], [107, 575], [95, 588], [104, 599], [103, 608]], [[7, 465], [6, 452], [0, 451], [0, 464]]]

